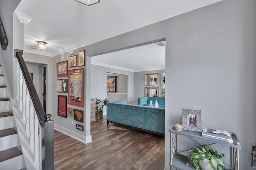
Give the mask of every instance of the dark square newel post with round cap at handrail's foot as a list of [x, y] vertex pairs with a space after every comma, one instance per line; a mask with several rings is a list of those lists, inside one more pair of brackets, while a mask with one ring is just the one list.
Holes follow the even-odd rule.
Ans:
[[51, 114], [43, 115], [42, 170], [54, 170], [54, 121]]

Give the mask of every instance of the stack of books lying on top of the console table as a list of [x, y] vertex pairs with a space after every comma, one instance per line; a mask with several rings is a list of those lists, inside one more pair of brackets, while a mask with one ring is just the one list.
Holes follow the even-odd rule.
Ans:
[[202, 137], [233, 143], [233, 139], [230, 133], [227, 131], [204, 129], [202, 132]]

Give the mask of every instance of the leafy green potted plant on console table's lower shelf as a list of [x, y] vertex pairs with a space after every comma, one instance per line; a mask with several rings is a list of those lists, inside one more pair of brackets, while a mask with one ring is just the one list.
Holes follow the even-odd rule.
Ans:
[[[224, 154], [218, 154], [217, 150], [213, 150], [212, 148], [206, 148], [204, 145], [202, 147], [195, 147], [194, 150], [189, 150], [188, 152], [192, 152], [189, 156], [189, 162], [187, 165], [192, 165], [196, 170], [201, 170], [201, 168], [209, 170], [224, 170], [224, 162], [222, 160], [222, 156]], [[203, 167], [202, 162], [208, 162], [208, 167]], [[207, 165], [206, 164], [206, 165]]]

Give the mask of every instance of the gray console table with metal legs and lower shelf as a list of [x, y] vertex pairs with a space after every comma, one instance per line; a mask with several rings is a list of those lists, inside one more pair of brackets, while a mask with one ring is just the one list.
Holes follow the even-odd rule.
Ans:
[[[188, 162], [187, 156], [179, 154], [179, 151], [178, 151], [178, 148], [177, 148], [177, 143], [178, 143], [177, 137], [178, 137], [178, 135], [189, 137], [192, 140], [201, 139], [201, 140], [204, 140], [204, 141], [210, 141], [211, 144], [209, 144], [209, 145], [219, 143], [219, 144], [222, 144], [225, 147], [232, 147], [232, 149], [233, 149], [233, 152], [232, 152], [232, 154], [233, 154], [233, 168], [231, 168], [231, 169], [239, 170], [239, 149], [241, 149], [241, 146], [239, 145], [239, 141], [238, 141], [236, 136], [232, 136], [233, 143], [228, 143], [228, 142], [224, 142], [224, 141], [219, 141], [219, 140], [215, 140], [215, 139], [208, 139], [206, 137], [202, 137], [201, 132], [186, 131], [186, 130], [176, 131], [176, 130], [174, 130], [174, 128], [172, 128], [172, 129], [170, 129], [169, 133], [170, 133], [170, 144], [171, 144], [170, 145], [170, 163], [169, 163], [169, 166], [170, 166], [171, 170], [172, 170], [172, 168], [176, 168], [178, 170], [194, 170], [193, 166], [191, 166], [191, 165], [187, 166], [186, 165], [186, 163]], [[238, 145], [236, 145], [236, 144], [238, 144]]]

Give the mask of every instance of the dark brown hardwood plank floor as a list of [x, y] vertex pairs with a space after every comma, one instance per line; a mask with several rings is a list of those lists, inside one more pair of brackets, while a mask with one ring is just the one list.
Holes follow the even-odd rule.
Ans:
[[108, 129], [106, 116], [91, 122], [92, 142], [84, 144], [54, 130], [55, 170], [163, 170], [164, 137]]

